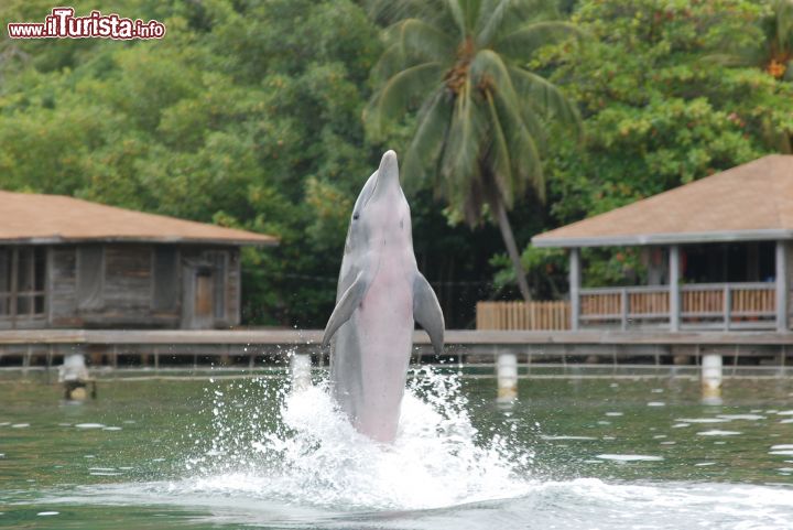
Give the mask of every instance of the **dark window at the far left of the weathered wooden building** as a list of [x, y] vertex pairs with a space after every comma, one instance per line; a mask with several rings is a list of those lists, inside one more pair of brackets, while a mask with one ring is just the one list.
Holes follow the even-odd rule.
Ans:
[[0, 320], [45, 313], [46, 249], [0, 248]]

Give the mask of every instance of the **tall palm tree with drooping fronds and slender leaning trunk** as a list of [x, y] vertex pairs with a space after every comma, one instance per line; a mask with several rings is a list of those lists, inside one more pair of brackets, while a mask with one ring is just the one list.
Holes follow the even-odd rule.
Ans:
[[367, 130], [417, 109], [403, 173], [424, 181], [466, 223], [489, 208], [498, 223], [524, 300], [531, 300], [507, 212], [529, 187], [544, 199], [541, 167], [550, 121], [575, 125], [577, 109], [529, 69], [541, 46], [575, 34], [547, 1], [414, 0], [373, 7], [385, 51], [373, 69]]

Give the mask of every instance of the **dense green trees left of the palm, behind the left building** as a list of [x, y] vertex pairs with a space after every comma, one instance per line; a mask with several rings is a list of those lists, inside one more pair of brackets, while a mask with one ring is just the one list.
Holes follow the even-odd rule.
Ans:
[[[51, 3], [15, 1], [2, 20]], [[63, 193], [281, 238], [247, 249], [243, 318], [322, 325], [333, 307], [378, 29], [349, 0], [78, 2], [166, 24], [151, 42], [0, 50], [0, 187]], [[341, 241], [341, 242], [340, 242]]]

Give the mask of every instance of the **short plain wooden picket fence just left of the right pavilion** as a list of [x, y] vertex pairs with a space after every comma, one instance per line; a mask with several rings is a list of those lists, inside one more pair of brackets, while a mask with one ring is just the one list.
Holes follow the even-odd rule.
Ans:
[[479, 302], [477, 329], [569, 329], [569, 302]]

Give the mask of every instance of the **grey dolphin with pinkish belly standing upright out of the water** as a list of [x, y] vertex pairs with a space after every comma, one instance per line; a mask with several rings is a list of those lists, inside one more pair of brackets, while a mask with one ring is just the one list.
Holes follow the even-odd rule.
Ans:
[[330, 344], [330, 385], [352, 425], [377, 442], [397, 437], [413, 347], [413, 320], [443, 350], [444, 317], [413, 253], [410, 206], [388, 151], [352, 208], [336, 307], [323, 346]]

